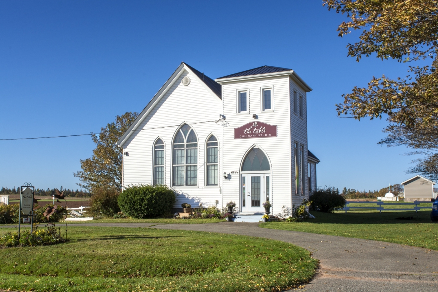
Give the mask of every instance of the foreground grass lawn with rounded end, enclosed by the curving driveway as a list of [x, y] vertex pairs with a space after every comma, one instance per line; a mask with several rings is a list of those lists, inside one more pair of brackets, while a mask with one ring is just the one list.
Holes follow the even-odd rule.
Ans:
[[318, 264], [300, 247], [248, 236], [72, 226], [68, 237], [53, 246], [0, 249], [0, 288], [271, 291], [307, 282]]

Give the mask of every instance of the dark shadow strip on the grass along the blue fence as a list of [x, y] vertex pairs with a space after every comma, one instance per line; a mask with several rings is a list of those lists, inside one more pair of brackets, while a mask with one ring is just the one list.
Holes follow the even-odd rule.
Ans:
[[[332, 224], [416, 224], [416, 223], [432, 223], [430, 214], [431, 211], [384, 211], [365, 212], [365, 211], [349, 211], [336, 213], [323, 213], [320, 211], [310, 211], [310, 214], [316, 218], [308, 219], [309, 223], [332, 223]], [[412, 217], [412, 218], [411, 218]], [[397, 219], [405, 218], [405, 219]], [[406, 219], [409, 218], [409, 219]]]

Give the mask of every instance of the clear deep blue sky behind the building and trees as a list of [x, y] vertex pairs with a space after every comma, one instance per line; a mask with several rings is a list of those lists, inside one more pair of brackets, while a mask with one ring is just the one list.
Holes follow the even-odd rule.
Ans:
[[[0, 139], [88, 134], [140, 112], [181, 61], [215, 78], [292, 68], [307, 95], [308, 147], [318, 185], [374, 190], [400, 183], [409, 149], [377, 145], [385, 120], [339, 118], [334, 104], [372, 76], [408, 64], [359, 63], [337, 36], [346, 17], [312, 1], [1, 1]], [[0, 186], [78, 188], [89, 136], [0, 141]]]

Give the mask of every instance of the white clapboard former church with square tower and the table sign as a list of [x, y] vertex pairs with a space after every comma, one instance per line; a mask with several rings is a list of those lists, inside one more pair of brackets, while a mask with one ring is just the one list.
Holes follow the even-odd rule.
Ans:
[[311, 90], [292, 69], [213, 80], [181, 63], [117, 142], [123, 186], [166, 184], [175, 208], [235, 201], [243, 216], [263, 214], [265, 201], [273, 214], [300, 204], [319, 162], [307, 148]]

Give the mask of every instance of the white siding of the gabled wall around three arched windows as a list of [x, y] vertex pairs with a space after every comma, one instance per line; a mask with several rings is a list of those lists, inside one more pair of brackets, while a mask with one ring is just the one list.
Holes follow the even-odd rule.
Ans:
[[[188, 86], [184, 86], [181, 80], [187, 75], [191, 82]], [[175, 207], [180, 208], [183, 202], [190, 203], [193, 207], [198, 206], [200, 202], [203, 205], [210, 205], [214, 204], [215, 200], [219, 200], [220, 207], [222, 204], [221, 176], [219, 176], [219, 186], [205, 186], [205, 143], [209, 134], [214, 134], [219, 140], [219, 153], [221, 154], [222, 127], [220, 123], [201, 122], [217, 120], [221, 109], [220, 99], [212, 96], [196, 77], [188, 74], [187, 71], [181, 74], [141, 123], [138, 130], [165, 128], [136, 131], [124, 144], [125, 151], [129, 154], [129, 156], [124, 156], [124, 186], [152, 183], [153, 143], [157, 137], [161, 137], [165, 144], [164, 176], [165, 183], [171, 186], [173, 137], [182, 123], [189, 125], [198, 123], [191, 125], [198, 136], [198, 186], [175, 187], [180, 193]], [[220, 155], [219, 159], [221, 159]], [[220, 166], [219, 163], [219, 174], [222, 171]]]

